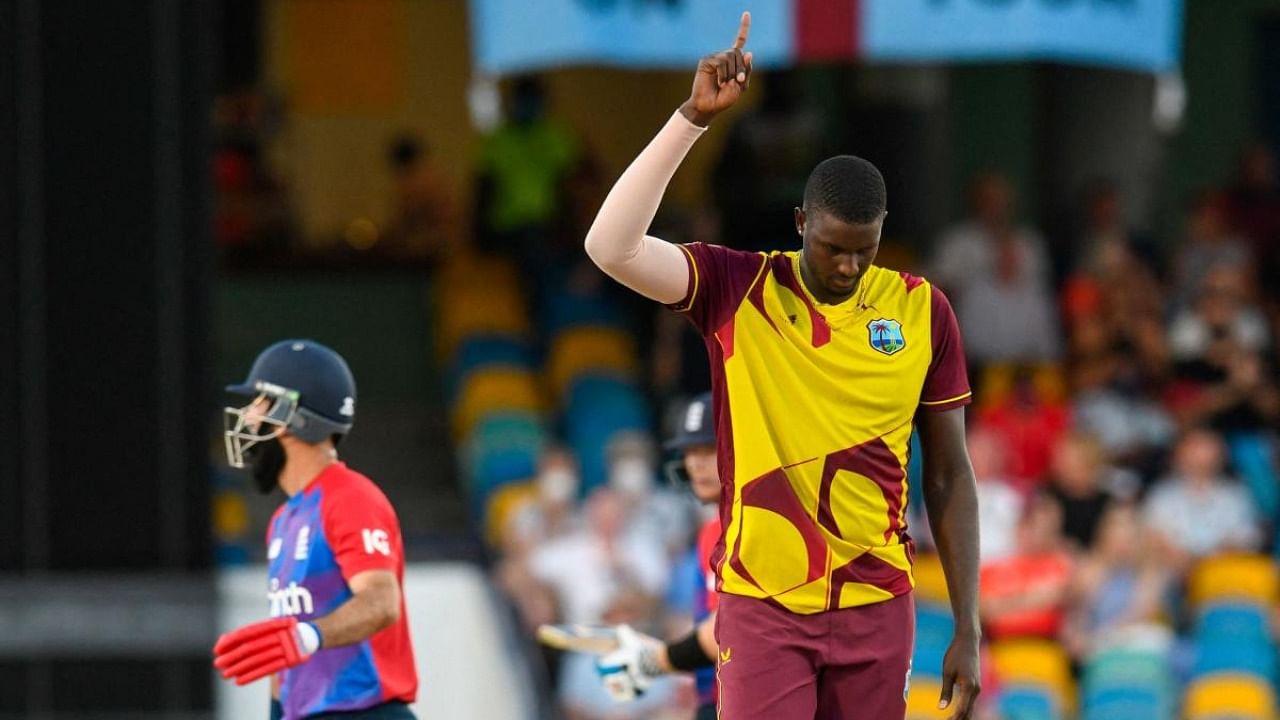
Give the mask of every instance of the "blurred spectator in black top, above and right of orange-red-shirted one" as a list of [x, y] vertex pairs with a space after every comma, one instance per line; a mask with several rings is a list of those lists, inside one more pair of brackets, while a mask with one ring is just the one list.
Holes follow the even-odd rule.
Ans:
[[1073, 432], [1053, 448], [1048, 493], [1062, 507], [1062, 534], [1079, 552], [1093, 547], [1102, 515], [1116, 497], [1137, 495], [1138, 478], [1108, 468], [1102, 446]]

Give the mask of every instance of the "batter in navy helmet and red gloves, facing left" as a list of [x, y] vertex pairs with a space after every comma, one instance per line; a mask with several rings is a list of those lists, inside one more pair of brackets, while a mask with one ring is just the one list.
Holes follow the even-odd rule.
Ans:
[[417, 671], [404, 615], [404, 551], [390, 502], [338, 460], [356, 382], [333, 350], [278, 342], [229, 392], [227, 459], [288, 496], [266, 536], [270, 620], [224, 634], [214, 666], [237, 684], [271, 676], [273, 720], [412, 719]]

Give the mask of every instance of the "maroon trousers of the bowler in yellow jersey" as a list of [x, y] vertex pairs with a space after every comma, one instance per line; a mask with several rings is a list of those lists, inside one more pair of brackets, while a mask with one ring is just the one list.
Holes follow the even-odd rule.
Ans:
[[892, 720], [906, 715], [915, 642], [910, 593], [797, 615], [722, 593], [721, 720]]

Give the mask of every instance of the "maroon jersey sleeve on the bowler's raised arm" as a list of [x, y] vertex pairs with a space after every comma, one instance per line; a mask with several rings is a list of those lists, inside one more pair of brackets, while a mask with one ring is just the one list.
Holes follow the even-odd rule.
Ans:
[[684, 314], [703, 336], [708, 336], [733, 316], [768, 256], [705, 242], [677, 247], [689, 263], [689, 292], [668, 307]]

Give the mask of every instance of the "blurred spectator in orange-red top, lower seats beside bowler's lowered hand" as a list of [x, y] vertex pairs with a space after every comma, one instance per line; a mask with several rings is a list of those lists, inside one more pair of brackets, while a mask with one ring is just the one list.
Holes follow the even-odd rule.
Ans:
[[1070, 579], [1062, 510], [1051, 497], [1037, 495], [1018, 524], [1018, 551], [982, 569], [979, 605], [988, 635], [1056, 638]]

